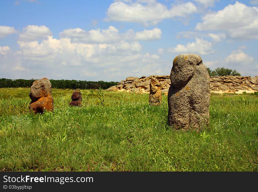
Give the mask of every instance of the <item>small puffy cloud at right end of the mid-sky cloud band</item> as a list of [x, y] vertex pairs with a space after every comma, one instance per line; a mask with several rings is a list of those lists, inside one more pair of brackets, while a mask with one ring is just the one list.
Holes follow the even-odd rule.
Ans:
[[158, 28], [154, 28], [153, 30], [144, 30], [135, 33], [136, 40], [154, 40], [161, 38], [161, 30]]

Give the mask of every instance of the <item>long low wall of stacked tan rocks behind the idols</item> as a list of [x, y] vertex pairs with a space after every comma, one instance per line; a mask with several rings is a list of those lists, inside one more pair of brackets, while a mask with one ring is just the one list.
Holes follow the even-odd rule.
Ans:
[[[107, 91], [126, 91], [135, 93], [150, 93], [150, 78], [155, 77], [162, 85], [162, 93], [167, 94], [170, 87], [169, 75], [152, 75], [149, 77], [127, 77]], [[215, 93], [253, 93], [258, 91], [258, 76], [220, 76], [210, 77], [210, 90]]]

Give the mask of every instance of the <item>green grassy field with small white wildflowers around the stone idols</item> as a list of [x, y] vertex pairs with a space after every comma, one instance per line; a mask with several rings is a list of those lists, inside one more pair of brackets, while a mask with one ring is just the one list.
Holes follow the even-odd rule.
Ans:
[[29, 113], [29, 88], [0, 89], [0, 171], [258, 171], [257, 94], [211, 95], [200, 133], [167, 126], [167, 96], [52, 89], [54, 111]]

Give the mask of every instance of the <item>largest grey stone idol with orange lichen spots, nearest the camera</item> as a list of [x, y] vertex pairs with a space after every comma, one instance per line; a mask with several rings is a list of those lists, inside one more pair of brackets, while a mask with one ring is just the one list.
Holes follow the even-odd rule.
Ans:
[[202, 58], [180, 54], [173, 60], [168, 92], [168, 124], [196, 130], [209, 123], [210, 76]]

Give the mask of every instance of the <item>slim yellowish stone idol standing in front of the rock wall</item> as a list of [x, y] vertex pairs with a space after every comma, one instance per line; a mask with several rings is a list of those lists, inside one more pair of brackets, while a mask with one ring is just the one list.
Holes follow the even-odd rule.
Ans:
[[162, 103], [161, 83], [155, 77], [150, 79], [149, 104], [157, 106]]

